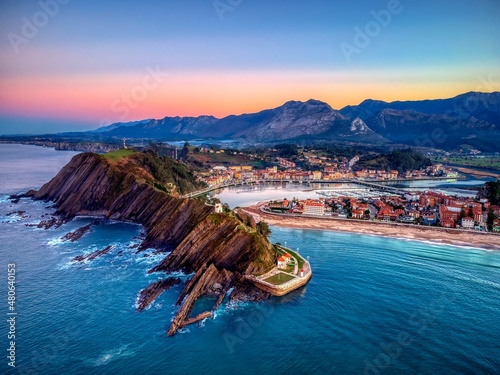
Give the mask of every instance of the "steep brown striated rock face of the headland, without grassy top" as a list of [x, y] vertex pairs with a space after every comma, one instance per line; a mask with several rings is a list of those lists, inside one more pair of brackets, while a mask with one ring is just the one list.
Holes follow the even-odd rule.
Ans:
[[[195, 272], [203, 280], [194, 280], [186, 287], [196, 298], [183, 303], [176, 327], [188, 320], [199, 296], [215, 293], [223, 297], [230, 287], [235, 288], [235, 295], [241, 294], [249, 288], [243, 275], [263, 273], [275, 262], [267, 239], [237, 217], [215, 214], [211, 206], [201, 201], [156, 190], [141, 182], [136, 174], [96, 154], [76, 155], [39, 191], [26, 195], [53, 201], [56, 213], [65, 219], [99, 215], [142, 224], [146, 229], [142, 247], [172, 251], [151, 272], [182, 270]], [[210, 274], [205, 275], [208, 270]], [[223, 290], [214, 289], [215, 284], [222, 284]]]

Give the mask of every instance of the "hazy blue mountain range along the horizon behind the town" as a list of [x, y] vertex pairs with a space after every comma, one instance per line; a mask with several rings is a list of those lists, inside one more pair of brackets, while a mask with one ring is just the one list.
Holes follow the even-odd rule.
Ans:
[[499, 151], [500, 92], [390, 103], [368, 99], [341, 110], [313, 99], [289, 101], [258, 113], [147, 119], [111, 124], [94, 132], [158, 140], [335, 141]]

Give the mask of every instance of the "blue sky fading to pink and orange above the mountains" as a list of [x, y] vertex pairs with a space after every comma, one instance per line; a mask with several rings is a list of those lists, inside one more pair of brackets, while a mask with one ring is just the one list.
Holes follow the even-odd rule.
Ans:
[[0, 134], [500, 91], [498, 0], [3, 0], [0, 29]]

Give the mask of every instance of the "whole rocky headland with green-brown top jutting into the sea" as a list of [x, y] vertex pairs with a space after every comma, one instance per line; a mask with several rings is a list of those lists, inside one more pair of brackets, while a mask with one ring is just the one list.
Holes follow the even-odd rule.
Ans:
[[[168, 331], [174, 335], [211, 315], [206, 311], [190, 317], [199, 297], [216, 297], [215, 310], [228, 294], [230, 300], [251, 301], [283, 294], [282, 287], [273, 293], [280, 286], [269, 288], [258, 279], [276, 268], [282, 251], [269, 242], [267, 225], [256, 224], [242, 212], [224, 212], [203, 200], [181, 198], [202, 186], [185, 164], [153, 151], [122, 149], [76, 155], [40, 190], [24, 196], [54, 202], [55, 214], [63, 221], [90, 215], [143, 225], [146, 237], [138, 251], [151, 247], [169, 252], [150, 273], [194, 274], [177, 301], [180, 308]], [[294, 281], [287, 292], [307, 282], [307, 267], [307, 277]], [[178, 282], [167, 277], [145, 288], [138, 310]]]

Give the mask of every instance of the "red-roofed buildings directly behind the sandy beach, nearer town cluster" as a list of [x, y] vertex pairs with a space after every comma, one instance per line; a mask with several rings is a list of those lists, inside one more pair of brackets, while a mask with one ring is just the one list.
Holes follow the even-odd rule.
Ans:
[[408, 192], [404, 196], [378, 195], [371, 198], [338, 196], [321, 199], [283, 199], [262, 207], [268, 213], [374, 222], [393, 222], [443, 228], [500, 232], [500, 206], [486, 200], [451, 197], [426, 191]]

